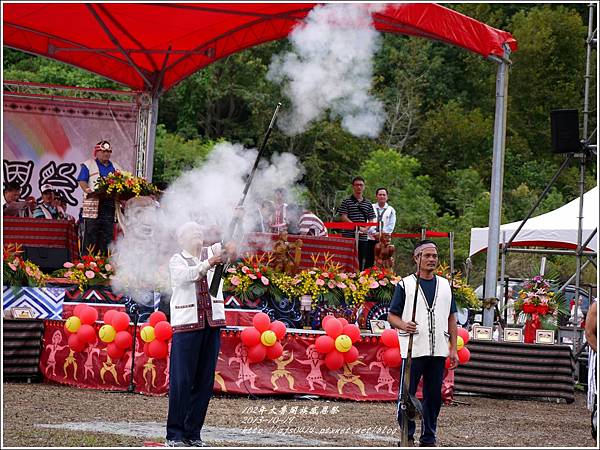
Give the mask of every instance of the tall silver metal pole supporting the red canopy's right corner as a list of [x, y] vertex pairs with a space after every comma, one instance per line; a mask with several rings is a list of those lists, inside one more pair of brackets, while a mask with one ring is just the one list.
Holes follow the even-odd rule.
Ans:
[[499, 61], [496, 74], [496, 112], [494, 120], [494, 148], [492, 156], [492, 183], [490, 188], [490, 224], [485, 270], [486, 298], [483, 325], [493, 326], [494, 307], [498, 302], [498, 244], [502, 216], [502, 188], [504, 182], [504, 147], [506, 140], [506, 108], [508, 103], [508, 68], [510, 50], [505, 45], [504, 58]]

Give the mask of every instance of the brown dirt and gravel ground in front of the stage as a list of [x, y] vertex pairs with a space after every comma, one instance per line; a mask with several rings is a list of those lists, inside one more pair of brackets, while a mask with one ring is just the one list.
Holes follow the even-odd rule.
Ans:
[[[576, 401], [456, 395], [438, 423], [443, 447], [595, 447]], [[3, 384], [3, 447], [141, 447], [164, 441], [167, 397], [51, 384]], [[248, 409], [250, 408], [250, 409]], [[137, 432], [127, 431], [134, 430]], [[128, 435], [129, 434], [129, 435]], [[218, 447], [395, 447], [393, 402], [217, 396], [203, 438]]]

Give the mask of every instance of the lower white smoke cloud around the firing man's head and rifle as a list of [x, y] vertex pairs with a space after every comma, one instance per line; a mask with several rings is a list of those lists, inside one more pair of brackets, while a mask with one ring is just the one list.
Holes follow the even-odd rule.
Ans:
[[[205, 245], [220, 240], [221, 234], [227, 233], [256, 155], [255, 149], [238, 144], [217, 144], [201, 167], [183, 173], [169, 186], [160, 207], [151, 206], [147, 198], [131, 200], [133, 205], [125, 211], [124, 236], [111, 247], [116, 269], [113, 290], [138, 302], [145, 302], [145, 290], [160, 287], [169, 292], [169, 259], [181, 251], [175, 239], [177, 229], [195, 221], [203, 228]], [[239, 242], [245, 231], [256, 229], [258, 204], [272, 200], [276, 188], [288, 193], [288, 203], [297, 203], [295, 196], [303, 189], [297, 183], [303, 173], [298, 159], [289, 153], [276, 154], [271, 162], [262, 160], [234, 240]]]

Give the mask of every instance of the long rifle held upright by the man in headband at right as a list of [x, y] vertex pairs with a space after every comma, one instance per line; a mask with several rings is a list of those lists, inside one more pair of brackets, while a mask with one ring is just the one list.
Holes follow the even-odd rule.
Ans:
[[[413, 309], [412, 309], [412, 319], [414, 322], [417, 315], [417, 296], [419, 294], [419, 286], [421, 284], [420, 278], [420, 270], [421, 270], [421, 255], [419, 255], [419, 259], [417, 262], [417, 282], [415, 286], [415, 295], [413, 298]], [[414, 333], [409, 333], [408, 337], [408, 348], [406, 350], [406, 358], [402, 360], [402, 373], [400, 378], [400, 389], [398, 391], [398, 411], [397, 411], [397, 419], [398, 424], [402, 428], [402, 440], [401, 446], [408, 446], [408, 421], [416, 420], [417, 417], [423, 416], [423, 407], [421, 406], [421, 402], [419, 399], [410, 393], [410, 368], [412, 365], [412, 347], [413, 347], [413, 339]]]

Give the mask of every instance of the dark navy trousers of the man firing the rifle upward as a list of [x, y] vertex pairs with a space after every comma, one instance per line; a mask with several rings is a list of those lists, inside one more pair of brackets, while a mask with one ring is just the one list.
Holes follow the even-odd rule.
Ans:
[[200, 439], [221, 348], [221, 328], [173, 334], [167, 439]]

